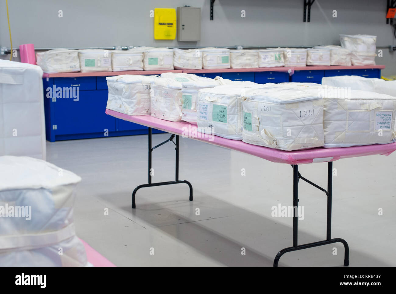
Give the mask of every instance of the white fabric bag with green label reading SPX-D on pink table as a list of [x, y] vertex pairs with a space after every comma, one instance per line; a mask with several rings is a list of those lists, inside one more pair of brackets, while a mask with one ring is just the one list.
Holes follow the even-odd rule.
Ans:
[[249, 87], [260, 86], [251, 82], [243, 83], [198, 90], [198, 131], [242, 140], [241, 94]]

